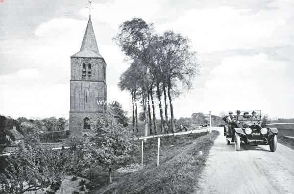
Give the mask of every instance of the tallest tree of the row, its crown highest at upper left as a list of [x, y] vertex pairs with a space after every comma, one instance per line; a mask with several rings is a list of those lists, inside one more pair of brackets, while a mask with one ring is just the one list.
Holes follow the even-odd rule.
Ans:
[[[141, 18], [133, 18], [131, 21], [125, 21], [120, 25], [120, 32], [115, 40], [123, 51], [124, 55], [137, 65], [137, 70], [141, 75], [138, 80], [142, 89], [142, 97], [147, 102], [147, 90], [149, 85], [149, 66], [152, 57], [152, 33], [153, 25], [147, 24]], [[144, 103], [143, 110], [145, 112], [145, 136], [148, 133], [147, 108]]]

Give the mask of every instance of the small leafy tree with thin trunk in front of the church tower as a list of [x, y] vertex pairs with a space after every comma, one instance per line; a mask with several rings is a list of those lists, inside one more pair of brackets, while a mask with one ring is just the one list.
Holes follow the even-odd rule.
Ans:
[[121, 127], [109, 116], [99, 118], [95, 133], [90, 137], [89, 147], [96, 161], [109, 170], [109, 182], [112, 182], [112, 169], [131, 159], [133, 150], [131, 132]]

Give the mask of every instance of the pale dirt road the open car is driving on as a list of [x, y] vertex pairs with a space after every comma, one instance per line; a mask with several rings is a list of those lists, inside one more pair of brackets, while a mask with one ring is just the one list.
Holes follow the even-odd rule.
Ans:
[[[223, 128], [210, 150], [196, 194], [294, 194], [294, 150], [267, 146], [227, 145]], [[278, 139], [279, 141], [279, 139]]]

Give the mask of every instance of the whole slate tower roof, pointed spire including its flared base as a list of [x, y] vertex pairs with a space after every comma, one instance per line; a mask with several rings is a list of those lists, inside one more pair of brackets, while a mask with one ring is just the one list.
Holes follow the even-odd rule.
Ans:
[[87, 28], [84, 34], [83, 42], [81, 45], [81, 49], [78, 53], [72, 55], [76, 57], [99, 57], [102, 56], [99, 54], [96, 37], [91, 21], [91, 15], [89, 16]]

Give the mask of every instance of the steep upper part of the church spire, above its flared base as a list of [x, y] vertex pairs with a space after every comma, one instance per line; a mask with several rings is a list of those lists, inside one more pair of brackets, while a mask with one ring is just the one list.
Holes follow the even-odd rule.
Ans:
[[94, 29], [91, 21], [91, 14], [89, 15], [89, 21], [87, 24], [80, 51], [94, 51], [95, 53], [99, 54]]

